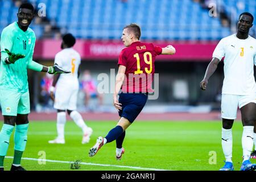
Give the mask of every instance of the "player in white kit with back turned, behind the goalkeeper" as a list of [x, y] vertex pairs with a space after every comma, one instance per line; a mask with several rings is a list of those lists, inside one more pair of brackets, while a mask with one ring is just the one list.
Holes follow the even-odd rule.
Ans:
[[[81, 57], [79, 53], [72, 48], [75, 43], [76, 39], [72, 34], [64, 35], [61, 43], [61, 49], [63, 50], [58, 52], [55, 56], [55, 64], [71, 70], [71, 73], [68, 73], [65, 76], [57, 74], [53, 78], [50, 94], [54, 101], [54, 108], [57, 109], [57, 138], [49, 140], [49, 143], [65, 143], [64, 127], [66, 123], [66, 110], [76, 125], [79, 126], [84, 133], [82, 144], [88, 143], [90, 135], [92, 135], [92, 129], [86, 126], [81, 114], [76, 110]], [[55, 97], [53, 94], [54, 90]]]

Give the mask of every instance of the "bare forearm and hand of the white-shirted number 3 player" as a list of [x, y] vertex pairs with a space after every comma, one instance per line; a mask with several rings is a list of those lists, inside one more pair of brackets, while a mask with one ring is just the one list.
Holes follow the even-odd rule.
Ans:
[[216, 57], [213, 57], [212, 61], [210, 61], [209, 65], [207, 67], [207, 70], [205, 72], [204, 78], [200, 82], [200, 88], [202, 90], [206, 90], [208, 80], [209, 80], [210, 76], [212, 76], [213, 73], [216, 71], [216, 69], [218, 67], [218, 63], [220, 63], [220, 60]]

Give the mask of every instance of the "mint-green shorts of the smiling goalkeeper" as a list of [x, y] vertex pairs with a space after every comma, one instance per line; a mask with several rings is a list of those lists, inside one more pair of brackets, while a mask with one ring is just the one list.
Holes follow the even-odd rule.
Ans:
[[30, 93], [20, 93], [15, 90], [0, 90], [2, 115], [30, 113]]

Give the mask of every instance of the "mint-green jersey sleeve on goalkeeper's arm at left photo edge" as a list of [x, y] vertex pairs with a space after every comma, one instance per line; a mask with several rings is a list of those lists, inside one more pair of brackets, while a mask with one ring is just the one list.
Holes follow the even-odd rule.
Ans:
[[8, 31], [6, 28], [3, 29], [1, 34], [1, 61], [3, 64], [6, 64], [5, 59], [8, 57], [5, 49], [11, 51], [13, 48], [13, 36], [13, 31]]

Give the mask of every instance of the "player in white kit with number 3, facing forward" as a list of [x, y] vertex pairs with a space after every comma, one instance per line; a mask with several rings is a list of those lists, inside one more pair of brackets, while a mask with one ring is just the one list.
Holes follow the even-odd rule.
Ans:
[[221, 39], [213, 52], [201, 89], [207, 88], [208, 79], [216, 71], [218, 63], [224, 59], [224, 82], [222, 86], [222, 149], [226, 158], [221, 171], [233, 170], [232, 126], [237, 117], [237, 107], [242, 115], [243, 163], [241, 171], [253, 171], [256, 164], [250, 163], [253, 150], [254, 123], [256, 121], [256, 84], [254, 64], [256, 65], [256, 40], [249, 35], [253, 26], [253, 15], [242, 13], [238, 19], [237, 34]]

